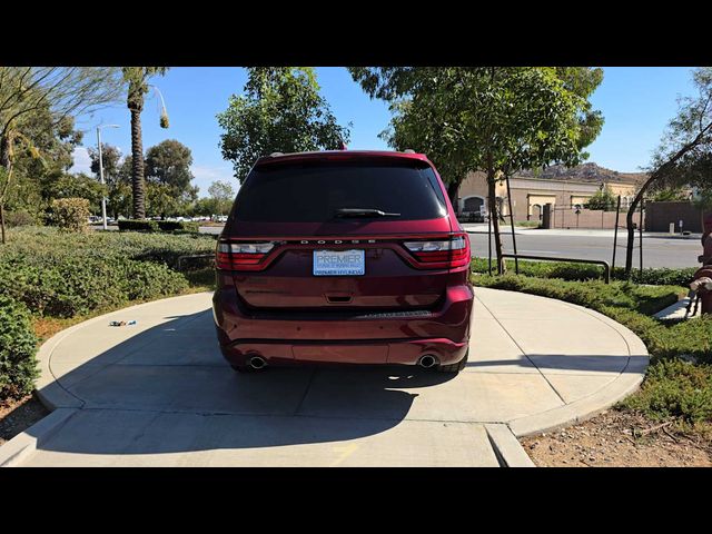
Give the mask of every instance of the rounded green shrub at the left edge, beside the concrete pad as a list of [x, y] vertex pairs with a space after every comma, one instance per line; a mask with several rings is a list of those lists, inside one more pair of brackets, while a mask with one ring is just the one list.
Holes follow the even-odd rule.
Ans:
[[37, 337], [28, 309], [0, 295], [0, 398], [32, 392], [38, 375]]

